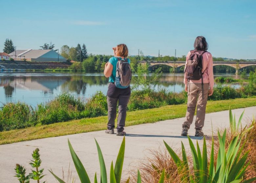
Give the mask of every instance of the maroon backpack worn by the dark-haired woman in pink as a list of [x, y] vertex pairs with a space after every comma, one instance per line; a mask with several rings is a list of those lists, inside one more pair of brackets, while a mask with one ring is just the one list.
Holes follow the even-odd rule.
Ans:
[[[186, 78], [188, 81], [192, 80], [199, 80], [202, 79], [202, 89], [203, 89], [203, 54], [206, 51], [200, 50], [191, 50], [190, 57], [186, 63], [186, 69], [184, 73], [186, 74]], [[203, 93], [202, 93], [203, 94]]]

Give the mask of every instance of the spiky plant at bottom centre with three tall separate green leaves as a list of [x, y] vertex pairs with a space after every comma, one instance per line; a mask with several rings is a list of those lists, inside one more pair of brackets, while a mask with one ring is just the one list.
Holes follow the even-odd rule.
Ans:
[[[105, 162], [104, 162], [104, 158], [101, 152], [101, 149], [99, 147], [98, 142], [96, 141], [96, 146], [97, 146], [97, 151], [98, 151], [98, 157], [99, 157], [99, 164], [100, 164], [100, 182], [101, 183], [107, 183], [107, 171], [106, 171], [106, 166], [105, 166]], [[69, 144], [69, 150], [73, 159], [73, 162], [75, 164], [75, 169], [77, 171], [77, 174], [80, 178], [80, 181], [82, 183], [91, 183], [89, 176], [82, 164], [82, 162], [80, 161], [80, 159], [78, 158], [78, 156], [76, 155], [70, 141], [68, 140], [68, 144]], [[123, 138], [123, 141], [121, 143], [120, 149], [119, 149], [119, 153], [117, 155], [117, 160], [116, 160], [116, 164], [115, 164], [115, 168], [113, 166], [113, 161], [111, 163], [111, 167], [110, 167], [110, 183], [120, 183], [121, 181], [121, 174], [122, 174], [122, 167], [123, 167], [123, 160], [124, 160], [124, 148], [125, 148], [125, 137]], [[50, 170], [49, 170], [50, 171]], [[65, 183], [63, 180], [61, 180], [58, 176], [56, 176], [52, 171], [50, 171], [51, 174], [60, 182], [60, 183]], [[163, 177], [162, 177], [163, 176]], [[159, 183], [163, 183], [163, 179], [164, 179], [164, 171], [161, 175], [160, 181]], [[129, 183], [130, 178], [127, 179], [126, 183]], [[94, 183], [97, 183], [97, 176], [95, 173], [95, 177], [94, 177]], [[138, 183], [141, 183], [141, 179], [140, 179], [140, 174], [139, 174], [139, 170], [138, 170]]]

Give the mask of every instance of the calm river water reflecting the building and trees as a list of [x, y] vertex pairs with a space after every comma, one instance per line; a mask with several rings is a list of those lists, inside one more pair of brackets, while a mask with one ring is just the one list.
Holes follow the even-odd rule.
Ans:
[[[235, 78], [235, 74], [221, 75]], [[240, 86], [238, 83], [232, 85], [236, 88]], [[106, 94], [107, 88], [108, 78], [99, 73], [0, 72], [0, 106], [2, 103], [22, 101], [35, 107], [63, 92], [86, 100], [96, 91]], [[163, 74], [156, 86], [156, 90], [172, 92], [181, 92], [183, 88], [183, 74]]]

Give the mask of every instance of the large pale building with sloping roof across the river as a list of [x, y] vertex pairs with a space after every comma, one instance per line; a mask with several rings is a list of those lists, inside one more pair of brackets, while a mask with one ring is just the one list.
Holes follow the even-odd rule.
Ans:
[[67, 59], [56, 53], [54, 50], [16, 50], [9, 54], [14, 60], [27, 61], [59, 61], [66, 62]]

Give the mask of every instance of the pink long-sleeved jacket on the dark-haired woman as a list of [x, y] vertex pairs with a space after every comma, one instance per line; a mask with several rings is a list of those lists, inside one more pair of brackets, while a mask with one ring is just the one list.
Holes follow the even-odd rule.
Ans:
[[[190, 57], [190, 51], [186, 57], [186, 65], [187, 60]], [[185, 65], [185, 69], [186, 69]], [[202, 83], [202, 80], [190, 80], [190, 83]], [[203, 83], [209, 83], [210, 88], [213, 89], [214, 79], [213, 79], [213, 61], [212, 54], [210, 52], [205, 52], [203, 54]], [[184, 84], [187, 84], [186, 74], [184, 73]]]

